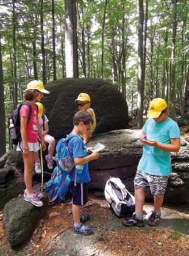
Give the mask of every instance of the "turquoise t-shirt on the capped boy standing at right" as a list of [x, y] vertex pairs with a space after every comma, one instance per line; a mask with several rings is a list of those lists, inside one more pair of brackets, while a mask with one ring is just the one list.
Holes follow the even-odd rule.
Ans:
[[[171, 118], [163, 122], [155, 122], [153, 118], [148, 118], [142, 131], [146, 134], [147, 140], [156, 140], [164, 144], [170, 144], [170, 138], [180, 138], [179, 126]], [[168, 176], [172, 171], [170, 152], [144, 145], [143, 156], [137, 169], [149, 175]]]

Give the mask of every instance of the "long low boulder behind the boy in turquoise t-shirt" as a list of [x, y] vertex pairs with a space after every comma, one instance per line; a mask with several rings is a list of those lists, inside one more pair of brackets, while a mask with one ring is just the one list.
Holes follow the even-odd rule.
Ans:
[[[98, 160], [90, 162], [91, 182], [89, 188], [104, 190], [107, 179], [121, 178], [131, 192], [134, 191], [134, 177], [143, 146], [138, 140], [140, 130], [114, 130], [99, 134], [87, 144], [94, 146], [100, 142], [106, 148], [100, 152]], [[184, 145], [179, 153], [171, 154], [173, 173], [169, 176], [165, 202], [179, 205], [189, 202], [189, 146]], [[146, 198], [152, 198], [146, 189]]]

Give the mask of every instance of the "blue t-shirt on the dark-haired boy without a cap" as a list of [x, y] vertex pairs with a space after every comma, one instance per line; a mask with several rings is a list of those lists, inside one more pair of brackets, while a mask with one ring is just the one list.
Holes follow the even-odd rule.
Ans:
[[[85, 149], [84, 141], [79, 135], [74, 136], [73, 138], [70, 138], [70, 140], [68, 141], [68, 147], [70, 149], [70, 155], [73, 159], [77, 157], [87, 156], [87, 151]], [[70, 179], [71, 181], [74, 181], [75, 171], [70, 173]], [[80, 173], [77, 173], [77, 183], [88, 183], [90, 180], [91, 179], [88, 173], [88, 162], [87, 162], [83, 165], [82, 171]]]

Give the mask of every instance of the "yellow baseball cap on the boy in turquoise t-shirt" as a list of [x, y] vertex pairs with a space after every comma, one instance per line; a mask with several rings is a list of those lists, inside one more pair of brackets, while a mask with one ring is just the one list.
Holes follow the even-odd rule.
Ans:
[[162, 110], [167, 108], [166, 101], [162, 98], [153, 99], [149, 104], [148, 118], [158, 118]]

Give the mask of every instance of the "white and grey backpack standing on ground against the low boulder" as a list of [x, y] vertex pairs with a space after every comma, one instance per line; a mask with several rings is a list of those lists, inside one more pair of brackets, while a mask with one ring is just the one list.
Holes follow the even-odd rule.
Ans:
[[110, 178], [105, 184], [105, 198], [118, 217], [128, 216], [135, 211], [135, 198], [119, 178]]

